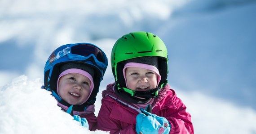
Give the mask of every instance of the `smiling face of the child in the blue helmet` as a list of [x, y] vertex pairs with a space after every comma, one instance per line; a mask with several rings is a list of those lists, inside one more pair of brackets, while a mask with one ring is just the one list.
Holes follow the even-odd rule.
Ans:
[[84, 75], [69, 73], [59, 79], [58, 93], [71, 105], [80, 105], [89, 96], [91, 81]]

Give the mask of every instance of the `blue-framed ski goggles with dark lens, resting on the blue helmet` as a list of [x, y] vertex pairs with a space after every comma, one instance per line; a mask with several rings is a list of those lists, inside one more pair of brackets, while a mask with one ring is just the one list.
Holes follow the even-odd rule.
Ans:
[[96, 46], [90, 44], [80, 44], [76, 46], [69, 46], [57, 52], [55, 57], [51, 57], [49, 59], [49, 64], [53, 61], [62, 58], [63, 56], [67, 55], [68, 59], [71, 60], [79, 60], [84, 61], [93, 57], [95, 63], [98, 67], [105, 69], [107, 59], [105, 55], [102, 53], [102, 50], [98, 49]]

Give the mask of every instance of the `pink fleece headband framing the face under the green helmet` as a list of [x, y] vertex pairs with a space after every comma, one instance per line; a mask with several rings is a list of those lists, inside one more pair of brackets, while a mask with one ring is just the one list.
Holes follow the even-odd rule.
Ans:
[[157, 74], [157, 85], [159, 84], [160, 80], [161, 80], [161, 75], [159, 73], [159, 70], [152, 66], [152, 65], [149, 65], [149, 64], [142, 64], [142, 63], [126, 63], [124, 65], [124, 69], [123, 69], [123, 74], [124, 74], [124, 80], [125, 80], [125, 84], [126, 84], [126, 87], [127, 87], [127, 81], [126, 81], [126, 76], [125, 76], [125, 69], [127, 67], [140, 67], [140, 68], [145, 68], [145, 69], [148, 69], [148, 70], [151, 70], [151, 71], [154, 71], [156, 74]]

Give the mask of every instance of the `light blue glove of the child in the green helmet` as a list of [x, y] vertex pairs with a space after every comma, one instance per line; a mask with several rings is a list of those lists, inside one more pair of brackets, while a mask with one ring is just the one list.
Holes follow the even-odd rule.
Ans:
[[136, 117], [137, 134], [169, 134], [171, 125], [165, 117], [159, 117], [141, 109]]

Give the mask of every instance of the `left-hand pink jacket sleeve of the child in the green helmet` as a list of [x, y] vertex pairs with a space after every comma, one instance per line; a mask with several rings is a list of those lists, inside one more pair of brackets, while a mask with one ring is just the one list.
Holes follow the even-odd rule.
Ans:
[[136, 124], [130, 125], [124, 129], [121, 128], [122, 122], [110, 117], [113, 109], [113, 102], [102, 100], [102, 106], [97, 117], [97, 129], [110, 131], [110, 134], [136, 134]]

